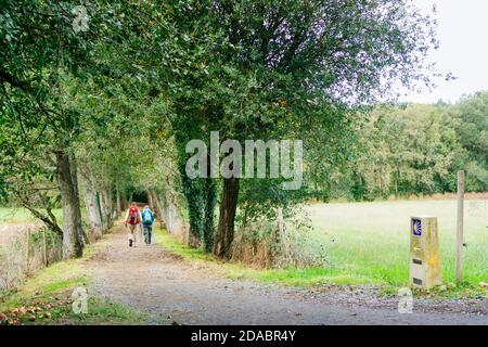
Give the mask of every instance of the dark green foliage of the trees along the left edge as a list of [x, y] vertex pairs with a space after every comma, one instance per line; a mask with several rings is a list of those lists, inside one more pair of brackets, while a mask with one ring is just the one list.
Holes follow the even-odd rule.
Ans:
[[[72, 144], [82, 131], [79, 110], [64, 102], [69, 94], [65, 87], [68, 77], [84, 80], [99, 68], [93, 50], [101, 36], [115, 33], [104, 1], [89, 7], [91, 29], [76, 31], [72, 12], [76, 5], [37, 0], [0, 4], [0, 144], [5, 149], [0, 158], [0, 195], [9, 194], [11, 202], [29, 208], [60, 234], [63, 231], [51, 213], [60, 198], [56, 157], [73, 164], [73, 176], [66, 176], [73, 194], [64, 194], [65, 207], [77, 195]], [[69, 204], [79, 215], [77, 204]]]

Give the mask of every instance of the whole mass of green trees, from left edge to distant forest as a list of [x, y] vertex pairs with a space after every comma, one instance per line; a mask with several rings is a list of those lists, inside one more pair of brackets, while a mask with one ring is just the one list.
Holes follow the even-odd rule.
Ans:
[[[408, 0], [98, 0], [89, 17], [77, 5], [0, 3], [0, 194], [56, 232], [65, 258], [141, 193], [163, 221], [168, 205], [183, 211], [189, 243], [229, 257], [236, 223], [311, 197], [452, 191], [459, 168], [487, 188], [486, 94], [371, 107], [398, 81], [440, 76], [435, 20]], [[304, 140], [306, 184], [190, 180], [185, 144], [213, 130]]]

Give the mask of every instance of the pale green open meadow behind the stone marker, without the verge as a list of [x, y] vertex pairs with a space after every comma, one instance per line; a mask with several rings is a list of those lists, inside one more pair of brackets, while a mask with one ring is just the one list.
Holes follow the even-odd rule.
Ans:
[[[317, 204], [311, 237], [325, 243], [332, 268], [365, 282], [404, 285], [409, 275], [410, 217], [438, 217], [445, 283], [454, 282], [455, 201]], [[466, 201], [464, 279], [488, 281], [488, 201]]]

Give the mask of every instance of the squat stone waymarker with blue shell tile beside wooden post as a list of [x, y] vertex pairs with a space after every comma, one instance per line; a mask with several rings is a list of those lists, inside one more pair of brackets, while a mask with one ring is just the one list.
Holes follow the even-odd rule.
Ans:
[[410, 286], [431, 288], [442, 283], [437, 217], [412, 217], [410, 222]]

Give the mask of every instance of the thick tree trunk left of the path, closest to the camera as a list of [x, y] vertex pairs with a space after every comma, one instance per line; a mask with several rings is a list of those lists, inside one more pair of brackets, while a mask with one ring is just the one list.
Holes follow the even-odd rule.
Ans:
[[73, 182], [69, 156], [64, 152], [56, 152], [57, 184], [63, 205], [63, 257], [69, 259], [82, 256], [80, 237], [81, 213]]

